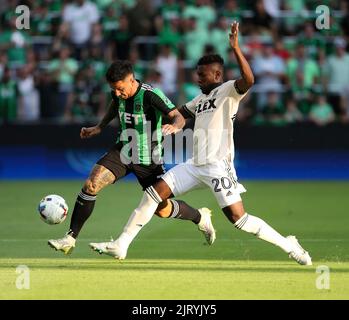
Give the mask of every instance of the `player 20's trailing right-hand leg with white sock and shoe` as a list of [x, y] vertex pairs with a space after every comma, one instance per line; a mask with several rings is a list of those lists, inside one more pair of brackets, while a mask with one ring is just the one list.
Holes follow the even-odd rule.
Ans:
[[261, 218], [245, 212], [242, 201], [224, 207], [223, 212], [234, 226], [270, 242], [285, 251], [290, 258], [302, 265], [311, 265], [311, 258], [294, 236], [284, 237]]

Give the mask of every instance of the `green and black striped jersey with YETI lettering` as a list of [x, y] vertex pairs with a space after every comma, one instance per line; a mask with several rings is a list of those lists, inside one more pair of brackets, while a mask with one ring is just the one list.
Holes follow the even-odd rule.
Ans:
[[139, 83], [137, 92], [129, 99], [111, 94], [119, 112], [117, 143], [122, 144], [125, 161], [141, 165], [160, 161], [162, 116], [174, 110], [174, 104], [160, 89], [144, 83]]

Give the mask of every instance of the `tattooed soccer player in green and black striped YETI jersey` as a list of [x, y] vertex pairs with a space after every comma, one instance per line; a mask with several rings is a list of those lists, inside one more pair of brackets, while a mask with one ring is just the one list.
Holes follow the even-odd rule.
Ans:
[[[91, 215], [97, 194], [133, 172], [143, 190], [161, 178], [165, 169], [161, 159], [163, 135], [181, 130], [185, 120], [173, 103], [158, 88], [141, 83], [134, 77], [129, 61], [118, 60], [111, 64], [106, 79], [112, 89], [112, 100], [103, 119], [94, 127], [82, 128], [80, 137], [91, 138], [117, 118], [119, 133], [116, 143], [99, 159], [80, 191], [71, 217], [70, 229], [61, 239], [52, 239], [48, 244], [65, 254], [75, 247], [76, 238]], [[162, 125], [163, 117], [169, 124]], [[180, 200], [165, 200], [155, 212], [160, 217], [191, 220], [212, 244], [215, 230], [211, 213], [207, 208], [194, 209]]]

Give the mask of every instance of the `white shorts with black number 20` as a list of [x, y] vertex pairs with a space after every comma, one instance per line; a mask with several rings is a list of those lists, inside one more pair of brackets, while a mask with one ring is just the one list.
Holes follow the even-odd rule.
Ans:
[[195, 166], [190, 159], [173, 167], [161, 178], [175, 197], [193, 189], [209, 187], [221, 208], [241, 201], [240, 193], [246, 192], [237, 182], [235, 168], [227, 159], [204, 166]]

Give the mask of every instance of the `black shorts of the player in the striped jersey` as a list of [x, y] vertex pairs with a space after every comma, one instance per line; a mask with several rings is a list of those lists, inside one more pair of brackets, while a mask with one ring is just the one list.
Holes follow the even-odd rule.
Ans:
[[110, 170], [116, 177], [116, 180], [119, 180], [132, 172], [137, 177], [143, 190], [145, 190], [158, 181], [165, 173], [165, 167], [162, 164], [124, 164], [121, 161], [120, 150], [121, 145], [115, 144], [104, 156], [102, 156], [102, 158], [97, 161], [97, 164]]

